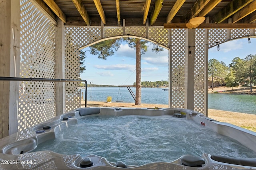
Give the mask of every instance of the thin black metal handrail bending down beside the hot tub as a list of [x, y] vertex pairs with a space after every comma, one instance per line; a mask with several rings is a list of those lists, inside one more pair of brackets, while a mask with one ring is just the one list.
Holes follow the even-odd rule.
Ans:
[[30, 81], [30, 82], [85, 82], [85, 107], [87, 106], [87, 81], [58, 78], [22, 78], [22, 77], [1, 77], [2, 81]]

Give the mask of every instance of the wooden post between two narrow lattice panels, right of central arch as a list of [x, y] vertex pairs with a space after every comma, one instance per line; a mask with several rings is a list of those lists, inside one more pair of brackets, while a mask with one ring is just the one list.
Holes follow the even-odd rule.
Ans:
[[[184, 108], [194, 110], [194, 69], [196, 29], [186, 29]], [[191, 54], [190, 52], [191, 51]]]

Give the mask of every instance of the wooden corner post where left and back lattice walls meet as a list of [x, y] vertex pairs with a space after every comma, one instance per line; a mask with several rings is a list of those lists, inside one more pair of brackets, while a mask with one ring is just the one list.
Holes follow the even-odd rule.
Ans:
[[[65, 26], [61, 20], [57, 21], [55, 27], [55, 78], [65, 79]], [[56, 82], [56, 113], [60, 115], [65, 113], [66, 95], [65, 82]]]

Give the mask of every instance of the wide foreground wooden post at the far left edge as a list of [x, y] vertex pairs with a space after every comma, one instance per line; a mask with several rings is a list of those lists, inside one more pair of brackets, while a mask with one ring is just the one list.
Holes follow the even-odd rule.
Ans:
[[[0, 3], [0, 76], [20, 75], [20, 1]], [[0, 138], [18, 131], [19, 82], [0, 82]]]

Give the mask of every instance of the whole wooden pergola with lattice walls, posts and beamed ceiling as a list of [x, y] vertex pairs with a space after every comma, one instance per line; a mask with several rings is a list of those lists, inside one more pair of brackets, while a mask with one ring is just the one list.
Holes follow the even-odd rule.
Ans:
[[[256, 0], [2, 0], [0, 10], [0, 76], [78, 79], [80, 49], [146, 39], [169, 49], [169, 107], [206, 115], [208, 49], [256, 27]], [[0, 138], [80, 107], [78, 84], [0, 81]]]

